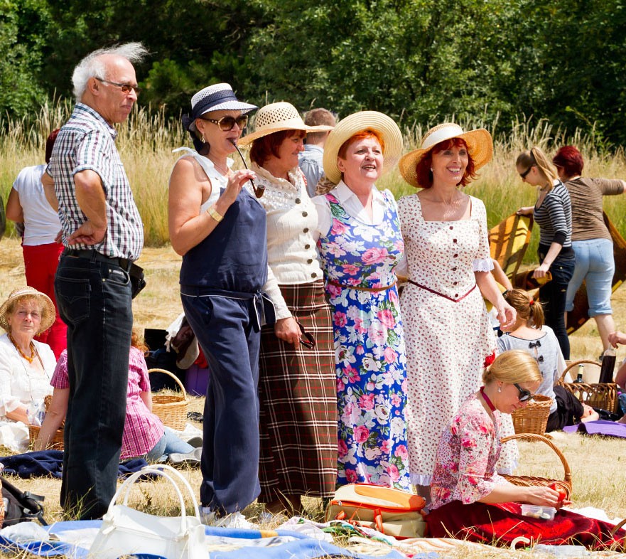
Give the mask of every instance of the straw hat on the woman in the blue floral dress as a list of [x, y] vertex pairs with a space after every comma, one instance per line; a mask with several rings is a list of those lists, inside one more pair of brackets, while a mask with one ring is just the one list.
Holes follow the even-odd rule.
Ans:
[[382, 172], [387, 173], [398, 162], [403, 146], [402, 134], [398, 125], [387, 115], [383, 115], [382, 112], [355, 112], [353, 115], [340, 120], [326, 140], [323, 164], [324, 174], [330, 181], [337, 184], [341, 180], [341, 171], [337, 166], [340, 147], [357, 132], [367, 129], [378, 132], [384, 142]]

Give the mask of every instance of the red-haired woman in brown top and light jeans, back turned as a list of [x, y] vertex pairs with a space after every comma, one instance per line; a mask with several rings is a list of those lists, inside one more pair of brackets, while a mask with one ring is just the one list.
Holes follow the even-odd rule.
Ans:
[[611, 309], [611, 284], [615, 272], [613, 243], [603, 219], [602, 197], [626, 191], [626, 181], [583, 178], [583, 156], [574, 146], [563, 146], [552, 159], [558, 176], [569, 191], [572, 204], [572, 248], [576, 266], [567, 287], [565, 310], [574, 308], [574, 297], [583, 281], [587, 286], [589, 316], [595, 319], [603, 349], [615, 331]]

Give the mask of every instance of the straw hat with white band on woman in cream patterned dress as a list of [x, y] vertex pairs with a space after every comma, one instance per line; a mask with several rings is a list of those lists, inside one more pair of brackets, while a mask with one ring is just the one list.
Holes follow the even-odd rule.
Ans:
[[402, 178], [416, 188], [422, 188], [422, 185], [417, 182], [417, 165], [422, 160], [423, 156], [425, 156], [428, 151], [431, 151], [433, 147], [453, 138], [460, 138], [465, 141], [470, 157], [474, 161], [475, 171], [491, 161], [493, 157], [493, 140], [487, 130], [477, 128], [469, 132], [464, 132], [463, 128], [458, 124], [444, 122], [426, 132], [426, 135], [421, 141], [421, 148], [409, 151], [408, 154], [402, 156], [399, 163]]

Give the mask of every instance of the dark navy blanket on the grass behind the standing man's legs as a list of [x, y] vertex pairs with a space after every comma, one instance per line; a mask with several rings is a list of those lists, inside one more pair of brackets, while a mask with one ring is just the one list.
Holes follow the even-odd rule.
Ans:
[[[63, 466], [63, 450], [37, 450], [12, 454], [0, 458], [0, 464], [4, 464], [3, 474], [18, 476], [22, 479], [30, 477], [55, 477], [60, 479], [61, 467]], [[148, 462], [136, 458], [119, 464], [118, 477], [126, 477], [138, 472]]]

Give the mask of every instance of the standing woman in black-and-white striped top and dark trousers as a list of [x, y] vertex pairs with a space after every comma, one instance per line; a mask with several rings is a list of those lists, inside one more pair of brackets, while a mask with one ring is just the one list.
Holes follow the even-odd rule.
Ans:
[[569, 340], [565, 327], [567, 286], [573, 275], [576, 258], [572, 249], [572, 211], [567, 188], [558, 179], [556, 168], [541, 149], [523, 151], [515, 161], [522, 181], [537, 187], [534, 206], [519, 208], [520, 215], [533, 215], [539, 225], [539, 267], [533, 277], [541, 279], [547, 272], [552, 281], [539, 288], [545, 305], [546, 324], [554, 330], [563, 357], [569, 359]]

